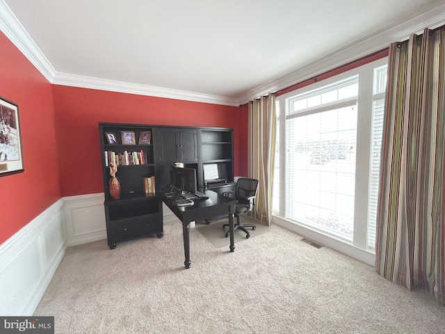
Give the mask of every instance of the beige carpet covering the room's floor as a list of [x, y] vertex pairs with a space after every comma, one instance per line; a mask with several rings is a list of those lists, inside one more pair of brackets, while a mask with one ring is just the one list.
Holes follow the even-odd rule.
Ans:
[[54, 316], [60, 334], [444, 333], [430, 294], [269, 229], [234, 253], [191, 229], [191, 269], [179, 223], [115, 250], [105, 240], [68, 248], [35, 315]]

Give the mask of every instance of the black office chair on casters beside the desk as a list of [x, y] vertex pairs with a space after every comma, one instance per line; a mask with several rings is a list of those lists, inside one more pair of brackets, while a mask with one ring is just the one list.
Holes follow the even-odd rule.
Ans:
[[[254, 224], [241, 224], [241, 215], [252, 211], [252, 207], [255, 205], [255, 198], [257, 198], [258, 180], [248, 179], [241, 177], [236, 182], [235, 198], [238, 200], [236, 203], [235, 216], [236, 224], [235, 230], [241, 230], [245, 232], [246, 238], [250, 237], [250, 233], [246, 228], [257, 228]], [[228, 227], [229, 224], [224, 224], [223, 228]], [[229, 237], [230, 231], [225, 234], [225, 237]]]

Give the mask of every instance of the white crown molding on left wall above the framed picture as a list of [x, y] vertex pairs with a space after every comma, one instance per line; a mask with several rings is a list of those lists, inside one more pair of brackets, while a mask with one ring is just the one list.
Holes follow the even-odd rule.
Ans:
[[31, 61], [34, 67], [51, 82], [56, 74], [56, 70], [54, 70], [47, 57], [35, 45], [31, 36], [3, 0], [0, 1], [0, 30]]

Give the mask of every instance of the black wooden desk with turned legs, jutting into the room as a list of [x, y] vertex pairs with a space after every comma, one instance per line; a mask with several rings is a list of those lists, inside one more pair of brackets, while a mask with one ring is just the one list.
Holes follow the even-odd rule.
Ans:
[[186, 260], [184, 264], [186, 269], [190, 268], [190, 234], [188, 224], [191, 221], [199, 221], [214, 216], [229, 216], [229, 231], [230, 231], [230, 251], [234, 252], [234, 213], [237, 200], [222, 196], [215, 191], [206, 190], [205, 195], [209, 198], [207, 200], [197, 200], [195, 205], [189, 207], [177, 207], [172, 205], [169, 198], [163, 198], [163, 202], [182, 222], [182, 234], [184, 236], [184, 253]]

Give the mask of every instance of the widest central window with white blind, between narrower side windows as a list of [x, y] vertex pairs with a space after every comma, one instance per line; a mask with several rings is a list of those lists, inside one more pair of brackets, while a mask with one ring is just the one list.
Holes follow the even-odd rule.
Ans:
[[286, 217], [353, 241], [357, 77], [296, 97], [286, 118]]

